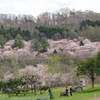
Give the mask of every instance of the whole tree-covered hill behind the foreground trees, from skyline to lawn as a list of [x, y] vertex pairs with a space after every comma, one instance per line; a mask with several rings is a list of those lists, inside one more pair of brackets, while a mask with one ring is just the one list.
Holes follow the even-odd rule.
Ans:
[[0, 79], [7, 71], [16, 76], [26, 66], [42, 65], [52, 86], [78, 84], [77, 61], [100, 51], [100, 14], [68, 8], [37, 18], [0, 14], [0, 45]]

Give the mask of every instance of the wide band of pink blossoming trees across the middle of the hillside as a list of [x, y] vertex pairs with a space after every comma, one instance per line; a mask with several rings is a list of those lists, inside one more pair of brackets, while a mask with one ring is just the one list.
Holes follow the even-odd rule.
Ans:
[[[84, 46], [80, 46], [80, 41], [84, 42]], [[48, 48], [47, 52], [40, 53], [42, 57], [48, 57], [51, 53], [56, 50], [57, 52], [68, 52], [72, 56], [94, 56], [100, 50], [100, 42], [91, 42], [88, 39], [84, 39], [83, 37], [74, 38], [73, 40], [69, 39], [61, 39], [58, 41], [48, 40], [50, 43], [50, 48]], [[30, 43], [31, 41], [24, 41], [24, 48], [14, 48], [11, 46], [14, 43], [14, 40], [10, 40], [5, 43], [4, 48], [0, 49], [0, 56], [10, 56], [16, 54], [18, 56], [29, 56], [36, 55], [37, 52], [31, 51]]]

